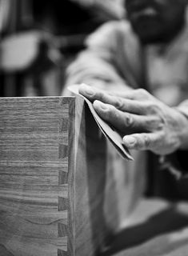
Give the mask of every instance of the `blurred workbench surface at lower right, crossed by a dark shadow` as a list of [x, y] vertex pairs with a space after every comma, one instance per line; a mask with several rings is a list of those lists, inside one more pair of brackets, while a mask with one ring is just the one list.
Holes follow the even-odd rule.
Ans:
[[105, 255], [187, 256], [188, 203], [142, 200]]

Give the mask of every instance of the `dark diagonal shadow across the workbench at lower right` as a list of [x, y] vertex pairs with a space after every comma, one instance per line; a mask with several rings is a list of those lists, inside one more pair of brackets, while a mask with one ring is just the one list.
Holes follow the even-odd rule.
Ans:
[[[127, 227], [125, 230], [122, 230], [114, 237], [110, 249], [102, 254], [102, 256], [109, 256], [121, 252], [121, 250], [139, 246], [159, 235], [181, 230], [186, 226], [188, 226], [188, 216], [178, 212], [175, 206], [171, 206], [158, 214], [154, 214], [142, 224]], [[172, 250], [172, 248], [164, 249], [168, 251]]]

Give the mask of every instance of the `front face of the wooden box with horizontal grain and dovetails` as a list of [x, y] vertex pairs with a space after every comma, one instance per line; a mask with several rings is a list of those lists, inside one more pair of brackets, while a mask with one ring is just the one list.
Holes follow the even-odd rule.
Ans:
[[3, 256], [67, 255], [72, 105], [74, 98], [0, 100]]

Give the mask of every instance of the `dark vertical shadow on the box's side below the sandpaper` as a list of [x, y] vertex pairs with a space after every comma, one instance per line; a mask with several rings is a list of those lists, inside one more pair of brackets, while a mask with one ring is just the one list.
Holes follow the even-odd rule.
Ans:
[[106, 235], [109, 234], [103, 211], [106, 187], [106, 138], [101, 135], [89, 107], [86, 106], [85, 110], [90, 222], [94, 248], [96, 248], [95, 255], [98, 255], [100, 248], [104, 246]]

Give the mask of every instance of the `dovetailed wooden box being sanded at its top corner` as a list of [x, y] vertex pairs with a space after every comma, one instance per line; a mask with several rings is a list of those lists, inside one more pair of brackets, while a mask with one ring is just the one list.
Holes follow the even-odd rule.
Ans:
[[105, 250], [135, 198], [111, 147], [82, 98], [0, 98], [0, 256]]

